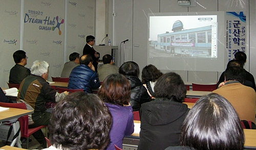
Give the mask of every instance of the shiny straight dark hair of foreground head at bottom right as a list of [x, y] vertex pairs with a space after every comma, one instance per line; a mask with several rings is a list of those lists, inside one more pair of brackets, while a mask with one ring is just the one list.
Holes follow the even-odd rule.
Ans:
[[244, 140], [236, 110], [216, 93], [202, 96], [181, 128], [181, 145], [195, 149], [243, 149]]

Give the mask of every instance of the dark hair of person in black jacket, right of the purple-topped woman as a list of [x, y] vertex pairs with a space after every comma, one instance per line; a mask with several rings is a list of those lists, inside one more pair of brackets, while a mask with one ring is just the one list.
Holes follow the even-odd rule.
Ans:
[[168, 72], [163, 74], [154, 87], [155, 97], [175, 99], [182, 103], [187, 93], [186, 86], [179, 74]]

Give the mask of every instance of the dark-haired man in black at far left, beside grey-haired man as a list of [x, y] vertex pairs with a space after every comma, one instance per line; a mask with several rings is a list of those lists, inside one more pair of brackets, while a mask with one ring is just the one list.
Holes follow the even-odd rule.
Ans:
[[20, 84], [30, 74], [30, 70], [24, 67], [27, 64], [28, 57], [26, 52], [18, 50], [13, 53], [13, 59], [15, 65], [10, 70], [9, 83]]

